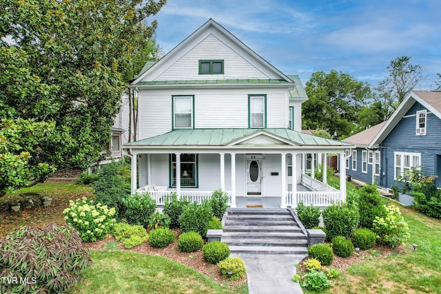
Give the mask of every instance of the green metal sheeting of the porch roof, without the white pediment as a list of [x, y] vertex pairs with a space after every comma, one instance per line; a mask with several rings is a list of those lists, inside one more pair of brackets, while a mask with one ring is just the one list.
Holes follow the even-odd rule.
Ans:
[[127, 143], [125, 146], [226, 146], [258, 132], [276, 136], [299, 146], [351, 146], [349, 143], [304, 134], [292, 129], [176, 129], [152, 138]]

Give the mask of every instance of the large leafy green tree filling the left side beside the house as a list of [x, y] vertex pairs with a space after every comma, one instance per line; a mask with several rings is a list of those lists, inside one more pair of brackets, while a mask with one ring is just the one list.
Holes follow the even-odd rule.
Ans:
[[[164, 4], [0, 0], [0, 195], [99, 158], [134, 56], [152, 44], [157, 23], [143, 21]], [[3, 169], [10, 156], [19, 167]]]

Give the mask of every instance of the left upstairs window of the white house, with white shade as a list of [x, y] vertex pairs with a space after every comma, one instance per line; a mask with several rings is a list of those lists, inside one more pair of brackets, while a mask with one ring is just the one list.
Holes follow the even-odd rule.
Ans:
[[173, 96], [173, 128], [193, 129], [194, 96]]

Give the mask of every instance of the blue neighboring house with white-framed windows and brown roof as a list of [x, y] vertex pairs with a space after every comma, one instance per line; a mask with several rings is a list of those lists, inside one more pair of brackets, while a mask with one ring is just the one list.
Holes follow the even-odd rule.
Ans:
[[346, 153], [353, 178], [402, 187], [404, 173], [416, 167], [441, 188], [441, 92], [410, 92], [389, 120], [344, 141], [356, 145]]

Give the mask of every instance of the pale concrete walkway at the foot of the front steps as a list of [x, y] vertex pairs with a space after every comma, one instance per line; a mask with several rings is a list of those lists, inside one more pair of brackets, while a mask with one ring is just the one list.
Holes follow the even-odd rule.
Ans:
[[306, 255], [239, 254], [247, 268], [249, 294], [302, 294], [292, 280], [296, 264]]

